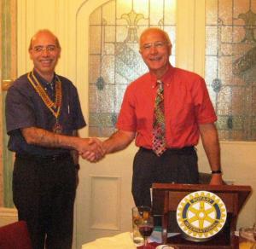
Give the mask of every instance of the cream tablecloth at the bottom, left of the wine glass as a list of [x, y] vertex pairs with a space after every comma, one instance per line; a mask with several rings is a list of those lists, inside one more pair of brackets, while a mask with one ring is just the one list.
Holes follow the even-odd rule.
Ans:
[[82, 249], [136, 249], [131, 233], [126, 232], [111, 237], [103, 237], [82, 245]]

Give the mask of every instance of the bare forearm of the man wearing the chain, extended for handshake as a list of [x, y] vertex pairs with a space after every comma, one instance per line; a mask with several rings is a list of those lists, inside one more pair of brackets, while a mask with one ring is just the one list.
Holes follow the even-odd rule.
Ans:
[[24, 128], [21, 132], [28, 144], [70, 149], [77, 149], [79, 146], [79, 137], [77, 136], [64, 136], [36, 127]]

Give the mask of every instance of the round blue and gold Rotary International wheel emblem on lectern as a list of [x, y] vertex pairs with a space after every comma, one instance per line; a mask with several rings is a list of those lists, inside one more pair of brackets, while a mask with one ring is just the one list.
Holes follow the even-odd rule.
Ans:
[[218, 195], [197, 191], [186, 195], [177, 206], [180, 229], [196, 240], [206, 240], [224, 227], [227, 211]]

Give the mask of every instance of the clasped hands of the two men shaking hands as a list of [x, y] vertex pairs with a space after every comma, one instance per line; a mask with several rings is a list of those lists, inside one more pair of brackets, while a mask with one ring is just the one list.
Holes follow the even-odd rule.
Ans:
[[96, 137], [81, 138], [79, 155], [90, 162], [97, 162], [106, 154], [103, 142]]

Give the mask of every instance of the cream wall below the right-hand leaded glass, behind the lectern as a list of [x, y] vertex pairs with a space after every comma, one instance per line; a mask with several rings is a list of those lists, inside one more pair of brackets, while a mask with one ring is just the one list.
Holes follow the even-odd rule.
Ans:
[[[249, 185], [253, 194], [241, 209], [237, 228], [252, 226], [256, 222], [256, 143], [255, 142], [221, 142], [222, 167], [224, 180], [236, 185]], [[201, 143], [198, 146], [199, 165], [203, 172], [209, 172], [206, 155]]]

